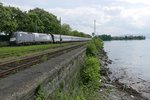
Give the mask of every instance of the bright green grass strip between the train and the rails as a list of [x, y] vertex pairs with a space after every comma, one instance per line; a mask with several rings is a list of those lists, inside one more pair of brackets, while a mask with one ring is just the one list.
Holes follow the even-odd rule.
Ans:
[[42, 44], [42, 45], [30, 45], [30, 46], [16, 46], [16, 47], [0, 47], [0, 61], [2, 59], [16, 58], [20, 56], [29, 55], [43, 50], [66, 46], [75, 43], [63, 43], [63, 44]]

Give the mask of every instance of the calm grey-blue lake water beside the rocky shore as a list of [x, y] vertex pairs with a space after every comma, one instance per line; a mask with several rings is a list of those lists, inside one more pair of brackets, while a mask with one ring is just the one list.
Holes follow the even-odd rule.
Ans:
[[150, 98], [150, 40], [106, 41], [104, 49], [113, 61], [111, 79], [120, 79]]

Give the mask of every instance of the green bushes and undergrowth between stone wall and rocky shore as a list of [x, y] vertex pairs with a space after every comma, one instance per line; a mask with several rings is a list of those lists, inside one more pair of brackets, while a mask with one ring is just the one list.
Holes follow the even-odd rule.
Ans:
[[[57, 93], [57, 100], [103, 100], [99, 95], [100, 86], [100, 61], [98, 53], [103, 49], [103, 42], [99, 39], [93, 39], [87, 44], [85, 65], [81, 70], [78, 86], [72, 86], [72, 90], [65, 90]], [[77, 88], [78, 87], [78, 88]], [[76, 89], [77, 88], [77, 89]], [[72, 91], [75, 91], [73, 94]]]

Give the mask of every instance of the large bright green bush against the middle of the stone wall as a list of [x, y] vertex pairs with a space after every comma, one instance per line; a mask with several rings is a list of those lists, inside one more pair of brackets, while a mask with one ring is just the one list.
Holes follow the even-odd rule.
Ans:
[[82, 72], [83, 84], [89, 88], [97, 89], [100, 85], [100, 63], [96, 57], [87, 57]]

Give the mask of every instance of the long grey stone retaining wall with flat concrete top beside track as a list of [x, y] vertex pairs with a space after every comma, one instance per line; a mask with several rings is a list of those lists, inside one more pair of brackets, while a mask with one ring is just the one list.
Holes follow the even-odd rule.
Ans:
[[0, 100], [34, 100], [42, 90], [46, 97], [69, 84], [80, 72], [85, 58], [85, 47], [50, 59], [30, 69], [0, 80]]

